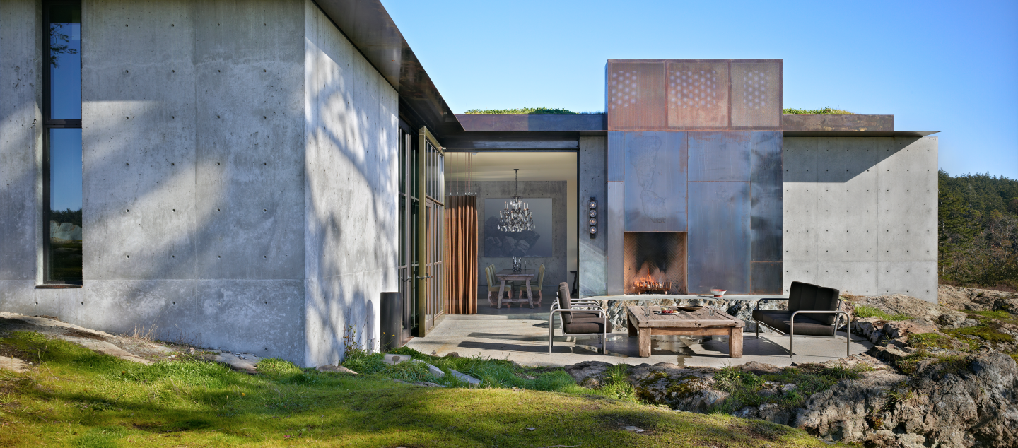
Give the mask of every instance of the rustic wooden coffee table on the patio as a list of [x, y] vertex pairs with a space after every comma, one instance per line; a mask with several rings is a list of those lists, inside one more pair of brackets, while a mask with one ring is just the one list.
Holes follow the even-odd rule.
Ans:
[[661, 306], [651, 306], [651, 316], [643, 316], [643, 306], [626, 306], [629, 336], [639, 335], [639, 355], [651, 355], [652, 335], [728, 336], [728, 355], [742, 357], [742, 328], [745, 323], [723, 311], [711, 314], [708, 307], [695, 312], [679, 311], [674, 315], [657, 315]]

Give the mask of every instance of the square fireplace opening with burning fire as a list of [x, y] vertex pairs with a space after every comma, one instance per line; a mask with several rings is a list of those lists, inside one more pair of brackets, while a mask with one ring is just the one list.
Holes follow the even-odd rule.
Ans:
[[626, 232], [623, 292], [686, 293], [686, 232]]

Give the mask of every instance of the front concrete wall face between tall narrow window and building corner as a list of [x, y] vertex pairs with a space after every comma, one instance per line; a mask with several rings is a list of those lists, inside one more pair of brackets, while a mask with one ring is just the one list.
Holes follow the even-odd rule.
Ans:
[[302, 360], [300, 1], [82, 4], [83, 277], [60, 317]]

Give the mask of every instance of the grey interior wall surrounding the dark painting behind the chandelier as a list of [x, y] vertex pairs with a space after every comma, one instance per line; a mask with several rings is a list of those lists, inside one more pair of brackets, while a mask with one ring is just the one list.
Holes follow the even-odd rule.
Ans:
[[[512, 268], [512, 259], [508, 257], [487, 258], [485, 257], [485, 200], [488, 198], [510, 198], [515, 190], [516, 184], [513, 181], [486, 181], [477, 182], [477, 272], [478, 283], [482, 286], [488, 284], [485, 278], [485, 267], [495, 265], [495, 269], [503, 270]], [[560, 282], [572, 281], [567, 272], [566, 251], [568, 239], [567, 228], [568, 201], [566, 200], [565, 181], [520, 181], [519, 195], [526, 198], [551, 198], [552, 199], [552, 257], [527, 257], [526, 267], [536, 269], [545, 265], [544, 291], [555, 291]], [[534, 280], [536, 281], [536, 280]], [[572, 283], [570, 283], [572, 284]], [[553, 292], [554, 296], [554, 292]], [[480, 295], [482, 301], [485, 294]]]

